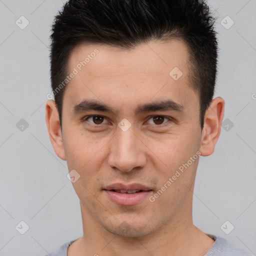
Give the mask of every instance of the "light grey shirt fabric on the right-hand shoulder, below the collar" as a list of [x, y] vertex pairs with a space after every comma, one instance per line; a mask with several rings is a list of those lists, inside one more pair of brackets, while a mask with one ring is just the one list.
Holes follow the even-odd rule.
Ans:
[[232, 246], [225, 238], [216, 237], [215, 242], [211, 248], [207, 251], [205, 256], [252, 256], [248, 252], [242, 249], [238, 249]]

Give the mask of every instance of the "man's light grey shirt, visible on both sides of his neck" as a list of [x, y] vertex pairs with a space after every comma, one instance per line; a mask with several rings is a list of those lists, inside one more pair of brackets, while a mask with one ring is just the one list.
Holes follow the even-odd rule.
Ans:
[[[214, 239], [215, 242], [204, 256], [252, 256], [252, 254], [249, 254], [245, 250], [233, 247], [225, 238], [216, 237], [212, 234], [207, 235]], [[67, 248], [74, 241], [66, 242], [58, 250], [44, 256], [67, 256]]]

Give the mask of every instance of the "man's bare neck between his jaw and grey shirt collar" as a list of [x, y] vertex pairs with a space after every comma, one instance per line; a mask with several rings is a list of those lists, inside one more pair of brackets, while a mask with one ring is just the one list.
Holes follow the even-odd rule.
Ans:
[[214, 243], [213, 239], [193, 225], [191, 205], [189, 209], [181, 206], [164, 225], [141, 237], [123, 237], [108, 232], [81, 202], [80, 205], [83, 236], [69, 246], [68, 256], [202, 256]]

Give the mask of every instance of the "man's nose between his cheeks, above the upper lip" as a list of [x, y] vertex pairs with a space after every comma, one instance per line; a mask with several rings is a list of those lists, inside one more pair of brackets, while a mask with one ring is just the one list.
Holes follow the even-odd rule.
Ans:
[[141, 136], [135, 134], [132, 127], [126, 131], [119, 127], [116, 129], [116, 134], [110, 142], [109, 166], [123, 172], [143, 167], [146, 163], [147, 147], [141, 141]]

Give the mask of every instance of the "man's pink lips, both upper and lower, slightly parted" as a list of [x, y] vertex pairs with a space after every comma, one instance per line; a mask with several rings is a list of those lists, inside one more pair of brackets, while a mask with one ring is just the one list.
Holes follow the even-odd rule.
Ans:
[[[118, 193], [114, 190], [144, 190], [137, 193]], [[122, 183], [114, 183], [111, 185], [106, 186], [103, 189], [103, 192], [106, 194], [106, 196], [113, 201], [116, 204], [119, 205], [134, 205], [139, 202], [141, 202], [143, 199], [148, 197], [152, 193], [152, 189], [138, 183], [132, 183], [132, 184], [122, 184]]]

